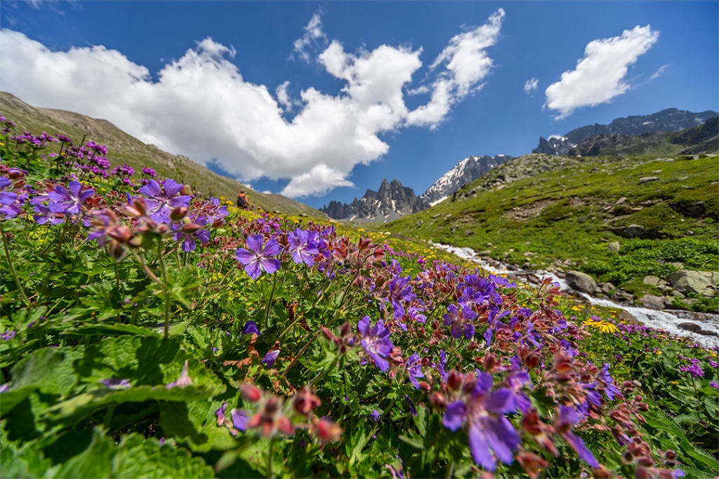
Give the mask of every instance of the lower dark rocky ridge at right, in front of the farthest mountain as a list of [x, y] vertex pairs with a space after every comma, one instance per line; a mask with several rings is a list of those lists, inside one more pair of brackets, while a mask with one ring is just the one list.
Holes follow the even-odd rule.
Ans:
[[583, 139], [569, 150], [570, 155], [700, 154], [719, 151], [719, 118], [672, 133], [639, 135], [601, 134]]

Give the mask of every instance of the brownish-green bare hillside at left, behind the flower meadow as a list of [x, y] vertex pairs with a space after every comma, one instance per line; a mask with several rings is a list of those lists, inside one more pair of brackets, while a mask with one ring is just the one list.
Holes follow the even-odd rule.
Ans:
[[224, 196], [234, 201], [237, 193], [246, 190], [252, 203], [264, 210], [326, 218], [321, 211], [290, 198], [263, 195], [232, 178], [217, 175], [191, 159], [163, 152], [154, 145], [144, 144], [106, 120], [90, 118], [70, 111], [35, 108], [5, 92], [0, 92], [0, 114], [17, 123], [19, 131], [27, 130], [34, 134], [40, 134], [41, 131], [47, 131], [49, 134], [60, 133], [70, 136], [75, 142], [80, 141], [87, 133], [88, 140], [108, 147], [108, 159], [113, 166], [127, 163], [137, 172], [143, 167], [152, 167], [160, 177], [174, 178], [206, 195]]

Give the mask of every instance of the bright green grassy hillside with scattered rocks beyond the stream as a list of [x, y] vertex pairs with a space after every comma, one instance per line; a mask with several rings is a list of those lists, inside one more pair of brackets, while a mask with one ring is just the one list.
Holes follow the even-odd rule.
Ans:
[[[666, 278], [676, 269], [667, 264], [672, 261], [682, 261], [687, 269], [719, 269], [716, 155], [669, 161], [540, 159], [550, 165], [549, 171], [502, 185], [494, 182], [521, 170], [517, 165], [525, 157], [515, 159], [462, 188], [454, 201], [376, 228], [490, 251], [496, 259], [533, 268], [567, 261], [564, 269], [584, 270], [640, 294], [659, 293], [641, 280], [645, 274]], [[642, 177], [659, 180], [640, 184]], [[626, 200], [617, 204], [622, 197]], [[685, 217], [669, 207], [696, 201], [707, 208], [702, 218]], [[612, 231], [632, 224], [644, 226], [651, 239], [623, 238]], [[619, 253], [608, 248], [614, 241], [620, 243]]]

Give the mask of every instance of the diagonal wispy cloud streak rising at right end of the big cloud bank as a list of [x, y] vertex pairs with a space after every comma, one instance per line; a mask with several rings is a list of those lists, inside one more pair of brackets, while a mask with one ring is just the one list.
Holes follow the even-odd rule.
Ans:
[[[454, 103], [484, 86], [482, 80], [494, 64], [485, 50], [497, 43], [504, 17], [504, 10], [498, 9], [486, 24], [452, 37], [430, 65], [434, 70], [444, 64], [445, 70], [432, 84], [429, 103], [409, 112], [406, 124], [434, 129], [446, 119]], [[417, 89], [411, 92], [419, 93]]]

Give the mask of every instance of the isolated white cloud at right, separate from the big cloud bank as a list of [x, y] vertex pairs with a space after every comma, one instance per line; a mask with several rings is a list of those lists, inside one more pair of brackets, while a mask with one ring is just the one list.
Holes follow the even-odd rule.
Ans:
[[559, 111], [557, 119], [566, 118], [582, 106], [597, 106], [626, 93], [630, 85], [624, 80], [630, 65], [636, 63], [659, 39], [659, 32], [649, 25], [624, 30], [620, 37], [592, 40], [577, 68], [562, 73], [557, 83], [546, 88], [546, 103]]

